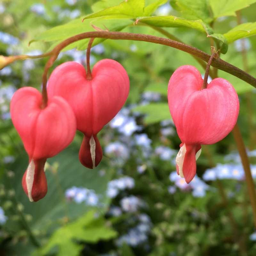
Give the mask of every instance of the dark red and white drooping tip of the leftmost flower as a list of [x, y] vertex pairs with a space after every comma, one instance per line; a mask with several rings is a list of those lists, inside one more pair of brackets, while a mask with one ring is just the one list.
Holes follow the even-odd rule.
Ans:
[[31, 202], [37, 202], [47, 193], [47, 181], [44, 172], [46, 159], [31, 159], [22, 178], [22, 187]]

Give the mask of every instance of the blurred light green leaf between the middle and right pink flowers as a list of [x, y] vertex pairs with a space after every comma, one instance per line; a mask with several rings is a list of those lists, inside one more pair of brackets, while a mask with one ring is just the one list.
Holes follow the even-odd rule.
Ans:
[[146, 114], [144, 119], [146, 124], [153, 124], [162, 120], [170, 119], [171, 114], [169, 111], [168, 103], [149, 103], [148, 105], [138, 106], [132, 109], [133, 111]]

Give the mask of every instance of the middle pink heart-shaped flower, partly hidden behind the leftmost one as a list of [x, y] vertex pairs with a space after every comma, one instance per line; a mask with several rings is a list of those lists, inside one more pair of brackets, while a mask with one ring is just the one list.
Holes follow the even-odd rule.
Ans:
[[77, 130], [84, 133], [79, 160], [95, 168], [102, 158], [97, 133], [123, 107], [129, 94], [129, 77], [115, 60], [100, 60], [92, 69], [92, 79], [77, 62], [66, 62], [55, 68], [48, 81], [49, 98], [65, 98], [76, 115]]

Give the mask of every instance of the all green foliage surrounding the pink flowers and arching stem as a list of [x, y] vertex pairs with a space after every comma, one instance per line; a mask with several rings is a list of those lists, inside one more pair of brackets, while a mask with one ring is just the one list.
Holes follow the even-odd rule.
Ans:
[[[44, 15], [31, 11], [35, 3], [44, 5]], [[3, 4], [6, 9], [0, 14], [0, 30], [19, 38], [18, 53], [21, 54], [30, 55], [33, 50], [45, 53], [68, 37], [95, 31], [95, 28], [107, 29], [168, 37], [208, 54], [211, 54], [210, 46], [214, 45], [220, 49], [221, 59], [256, 76], [256, 1], [253, 0], [77, 0], [73, 5], [63, 0], [4, 0]], [[159, 7], [163, 4], [172, 7], [168, 13], [160, 12]], [[60, 8], [54, 11], [54, 6]], [[60, 18], [59, 14], [64, 10], [69, 14], [79, 10], [80, 15], [76, 18], [62, 15]], [[250, 47], [238, 51], [238, 39], [243, 39], [244, 44], [249, 42]], [[85, 51], [88, 42], [89, 39], [77, 41], [63, 52], [74, 48]], [[241, 45], [241, 41], [238, 42]], [[115, 59], [129, 75], [131, 88], [126, 106], [131, 107], [133, 113], [139, 113], [137, 122], [143, 127], [142, 132], [148, 134], [153, 147], [164, 144], [178, 151], [180, 140], [176, 133], [164, 140], [160, 134], [159, 122], [171, 118], [167, 103], [168, 81], [175, 69], [182, 65], [193, 65], [202, 74], [204, 68], [188, 53], [164, 45], [110, 39], [95, 39], [93, 45], [99, 43], [105, 51], [92, 53], [95, 60]], [[9, 55], [9, 46], [1, 41], [0, 53]], [[13, 49], [13, 55], [15, 51], [17, 49]], [[68, 55], [60, 54], [50, 72], [68, 60]], [[27, 79], [23, 62], [13, 62], [11, 75], [1, 76], [0, 86], [12, 85], [17, 89], [33, 86], [40, 90], [46, 61], [47, 58], [33, 60], [35, 67], [29, 71]], [[227, 79], [239, 95], [238, 125], [245, 145], [254, 150], [255, 88], [224, 71], [219, 70], [218, 76]], [[161, 100], [140, 104], [143, 92], [157, 92]], [[100, 132], [103, 148], [118, 136], [116, 130], [106, 126]], [[84, 168], [78, 161], [81, 138], [78, 132], [67, 149], [47, 160], [48, 193], [43, 200], [30, 203], [21, 186], [28, 165], [26, 152], [11, 120], [0, 118], [0, 205], [8, 216], [7, 222], [1, 226], [0, 255], [94, 256], [108, 252], [124, 256], [256, 255], [256, 245], [249, 239], [254, 228], [244, 181], [238, 182], [241, 187], [238, 192], [236, 181], [221, 180], [213, 182], [211, 185], [215, 190], [208, 191], [203, 198], [195, 198], [182, 190], [170, 195], [167, 191], [171, 185], [168, 175], [175, 167], [152, 157], [147, 171], [139, 175], [137, 162], [139, 158], [142, 162], [144, 159], [143, 150], [138, 148], [136, 152], [139, 154], [131, 154], [121, 167], [125, 175], [135, 179], [136, 186], [131, 193], [143, 198], [148, 205], [141, 212], [147, 213], [152, 220], [150, 248], [133, 248], [126, 243], [116, 246], [115, 239], [128, 229], [125, 220], [133, 215], [108, 216], [110, 206], [118, 204], [121, 199], [120, 195], [116, 199], [106, 196], [108, 182], [118, 177], [120, 166], [113, 165], [111, 158], [104, 156], [95, 170]], [[235, 150], [236, 145], [230, 134], [203, 149], [197, 167], [200, 177], [211, 167], [207, 154], [214, 163], [224, 163], [224, 156]], [[6, 156], [14, 156], [15, 161], [4, 163]], [[251, 161], [254, 164], [255, 159]], [[103, 176], [100, 175], [102, 170], [106, 173]], [[64, 192], [72, 186], [95, 190], [101, 195], [100, 206], [67, 201]], [[220, 193], [214, 192], [218, 189]], [[229, 192], [236, 194], [232, 198], [225, 197]], [[192, 216], [194, 212], [196, 217]]]

